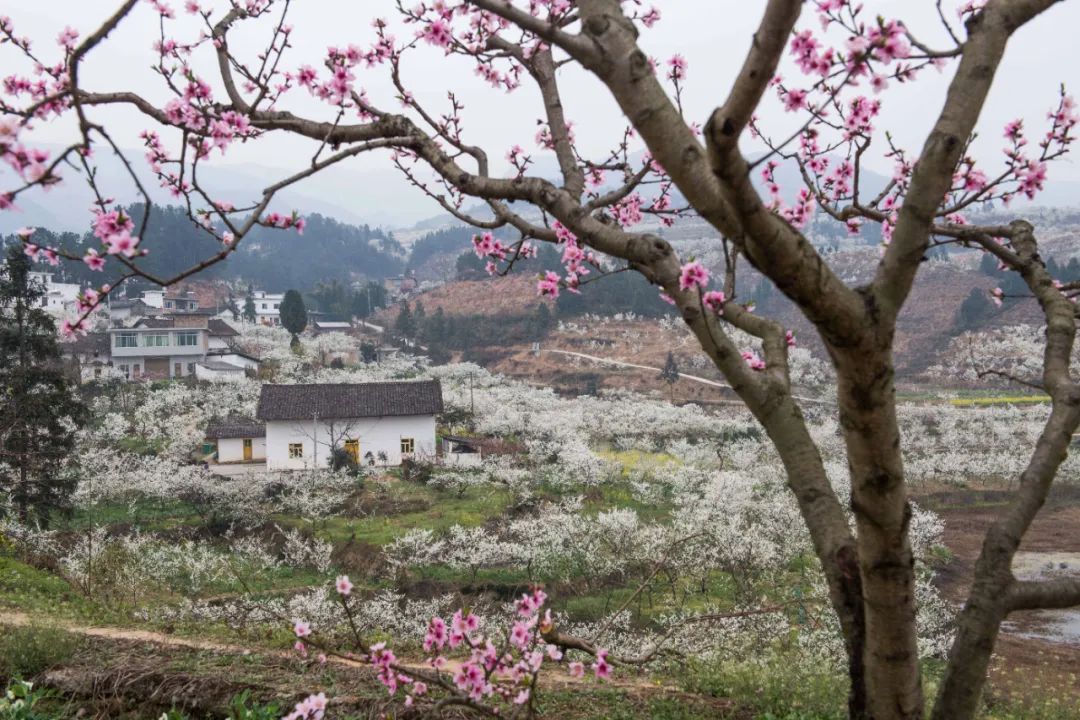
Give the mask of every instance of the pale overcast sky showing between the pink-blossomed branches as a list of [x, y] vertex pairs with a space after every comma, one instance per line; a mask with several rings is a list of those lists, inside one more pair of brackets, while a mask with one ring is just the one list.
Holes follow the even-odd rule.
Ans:
[[[192, 37], [192, 19], [184, 13], [181, 0], [171, 1], [178, 16], [177, 35]], [[203, 0], [203, 4], [210, 5], [210, 2]], [[291, 19], [295, 27], [295, 49], [285, 60], [291, 69], [302, 64], [319, 67], [327, 45], [356, 43], [367, 46], [373, 39], [372, 18], [394, 17], [392, 0], [295, 0], [293, 4]], [[710, 110], [723, 101], [764, 4], [753, 0], [656, 2], [663, 14], [663, 21], [652, 30], [644, 32], [642, 44], [661, 62], [675, 53], [688, 59], [686, 107], [690, 119], [703, 122]], [[955, 18], [953, 9], [958, 3], [946, 0], [945, 4], [950, 8], [950, 19]], [[869, 0], [866, 5], [867, 16], [880, 13], [887, 17], [900, 17], [928, 42], [944, 44], [945, 36], [936, 18], [934, 0]], [[12, 18], [18, 35], [36, 39], [38, 50], [55, 58], [54, 38], [65, 25], [85, 35], [96, 28], [117, 6], [118, 0], [6, 0], [2, 12]], [[809, 12], [806, 19], [816, 27], [816, 22]], [[1032, 130], [1042, 127], [1045, 111], [1054, 104], [1058, 85], [1062, 82], [1069, 86], [1080, 85], [1080, 43], [1075, 39], [1078, 27], [1080, 0], [1067, 0], [1022, 29], [1014, 38], [980, 125], [983, 141], [976, 146], [976, 150], [989, 163], [987, 171], [993, 169], [994, 163], [1000, 158], [1001, 128], [1007, 121], [1020, 117], [1025, 118]], [[253, 50], [256, 47], [255, 41], [266, 37], [266, 24], [244, 27], [233, 38], [233, 47], [241, 53], [245, 49]], [[408, 32], [404, 28], [397, 30], [400, 37]], [[151, 44], [157, 39], [157, 33], [156, 13], [149, 5], [140, 3], [119, 30], [86, 60], [82, 76], [84, 86], [98, 91], [135, 90], [160, 101], [167, 99], [167, 95], [161, 90], [160, 80], [148, 69], [154, 59]], [[205, 52], [203, 57], [211, 59]], [[15, 68], [13, 60], [10, 49], [0, 52], [3, 74]], [[208, 69], [204, 62], [197, 62], [195, 66]], [[892, 132], [900, 145], [917, 151], [941, 109], [953, 69], [954, 66], [949, 66], [942, 74], [933, 70], [927, 71], [917, 83], [899, 86], [893, 89], [894, 92], [883, 95], [880, 127]], [[494, 91], [475, 78], [472, 70], [471, 64], [458, 58], [446, 58], [442, 53], [428, 47], [414, 53], [404, 68], [406, 82], [414, 94], [435, 110], [445, 108], [447, 89], [458, 93], [467, 105], [464, 116], [468, 121], [468, 139], [486, 147], [492, 159], [501, 161], [514, 144], [536, 151], [534, 136], [537, 120], [541, 117], [537, 94], [528, 85], [509, 95]], [[784, 74], [794, 79], [797, 72], [788, 66], [784, 68]], [[207, 72], [207, 79], [211, 78]], [[377, 67], [361, 70], [357, 72], [357, 84], [367, 90], [370, 97], [382, 107], [396, 106], [395, 101], [389, 99], [392, 93], [384, 69]], [[215, 90], [218, 90], [216, 85]], [[618, 109], [604, 87], [580, 71], [566, 72], [563, 92], [567, 114], [575, 121], [579, 147], [586, 154], [602, 157], [612, 146], [624, 124]], [[312, 116], [332, 117], [328, 109], [306, 96], [307, 93], [302, 90], [294, 91], [287, 107]], [[774, 116], [779, 121], [775, 125], [779, 131], [791, 118], [775, 112], [778, 107], [771, 100], [766, 106], [768, 109], [762, 110], [762, 116]], [[148, 126], [132, 110], [95, 110], [95, 117], [111, 123], [118, 131], [121, 144], [127, 147], [138, 147], [136, 135]], [[63, 142], [71, 138], [71, 128], [62, 123], [53, 123], [39, 128], [36, 137], [42, 141]], [[219, 160], [215, 153], [214, 163], [296, 168], [303, 165], [303, 147], [295, 138], [267, 137], [247, 147], [230, 150], [225, 159]], [[753, 147], [747, 146], [747, 149], [753, 150]], [[870, 162], [877, 164], [877, 169], [890, 172], [885, 162]], [[389, 163], [386, 155], [357, 158], [351, 163], [342, 172], [312, 181], [306, 190], [361, 213], [368, 205], [374, 207], [377, 204], [383, 214], [393, 210], [400, 213], [403, 220], [437, 212], [437, 207], [424, 201], [419, 193], [396, 185], [396, 180], [386, 172]], [[1057, 163], [1051, 171], [1051, 178], [1080, 180], [1080, 166], [1071, 161]], [[10, 185], [10, 176], [0, 176], [0, 182]]]

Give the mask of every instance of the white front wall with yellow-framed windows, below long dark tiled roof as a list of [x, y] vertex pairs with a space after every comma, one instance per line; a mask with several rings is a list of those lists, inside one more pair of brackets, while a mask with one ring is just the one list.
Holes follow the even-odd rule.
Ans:
[[[400, 465], [402, 462], [401, 440], [411, 437], [415, 457], [432, 458], [435, 454], [435, 418], [434, 416], [405, 416], [396, 418], [361, 418], [357, 420], [337, 420], [333, 422], [334, 436], [338, 438], [348, 429], [346, 437], [360, 440], [360, 459], [370, 452], [376, 457], [379, 452], [387, 454], [388, 465]], [[268, 470], [303, 470], [312, 466], [326, 467], [330, 457], [330, 423], [313, 421], [275, 421], [267, 423], [267, 468]], [[318, 441], [312, 443], [312, 437]], [[303, 458], [289, 459], [288, 446], [299, 443], [303, 446]], [[345, 446], [343, 439], [339, 441]], [[313, 452], [313, 445], [318, 454]]]

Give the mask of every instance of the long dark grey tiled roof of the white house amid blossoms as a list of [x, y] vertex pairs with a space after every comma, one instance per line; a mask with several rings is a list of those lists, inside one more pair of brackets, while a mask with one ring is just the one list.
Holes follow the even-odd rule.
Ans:
[[259, 420], [383, 418], [443, 411], [437, 380], [422, 382], [262, 385]]

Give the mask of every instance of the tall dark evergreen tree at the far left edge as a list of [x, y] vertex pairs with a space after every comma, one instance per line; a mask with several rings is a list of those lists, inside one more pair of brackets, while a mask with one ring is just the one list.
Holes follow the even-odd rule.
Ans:
[[[0, 272], [0, 492], [42, 525], [75, 491], [75, 430], [86, 410], [64, 371], [44, 287], [18, 245]], [[3, 504], [0, 503], [0, 510]]]

